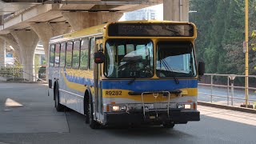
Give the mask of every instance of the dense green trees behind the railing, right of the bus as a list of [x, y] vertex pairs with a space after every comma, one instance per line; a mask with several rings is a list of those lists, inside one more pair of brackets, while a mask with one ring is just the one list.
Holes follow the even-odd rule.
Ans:
[[[250, 0], [250, 31], [256, 30], [255, 3]], [[244, 7], [244, 0], [190, 1], [190, 10], [198, 11], [190, 14], [190, 22], [198, 27], [197, 58], [206, 62], [206, 73], [244, 73]], [[254, 53], [250, 48], [250, 69], [255, 66]], [[252, 70], [250, 74], [254, 74]]]

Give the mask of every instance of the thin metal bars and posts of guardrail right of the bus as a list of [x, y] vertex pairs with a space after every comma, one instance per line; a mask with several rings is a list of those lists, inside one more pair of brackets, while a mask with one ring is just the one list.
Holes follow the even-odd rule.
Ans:
[[[210, 77], [210, 83], [198, 83], [198, 86], [209, 86], [210, 87], [210, 94], [202, 94], [202, 93], [198, 93], [199, 96], [209, 96], [210, 97], [210, 102], [213, 103], [214, 102], [214, 98], [226, 98], [226, 105], [227, 106], [234, 106], [234, 100], [242, 100], [245, 101], [244, 103], [247, 102], [252, 102], [254, 103], [254, 107], [256, 108], [256, 97], [255, 98], [251, 98], [252, 95], [249, 94], [248, 98], [239, 98], [238, 95], [239, 94], [235, 94], [234, 93], [234, 89], [238, 89], [238, 90], [246, 90], [246, 88], [250, 91], [255, 91], [256, 87], [246, 87], [246, 86], [234, 86], [234, 80], [235, 78], [245, 78], [245, 75], [236, 75], [236, 74], [205, 74], [204, 77]], [[223, 85], [223, 84], [214, 84], [214, 78], [217, 77], [226, 77], [226, 84], [227, 85]], [[254, 75], [249, 75], [248, 78], [250, 79], [254, 79], [254, 82], [256, 83], [256, 76]], [[223, 78], [222, 78], [223, 80]], [[220, 94], [214, 94], [214, 87], [218, 87], [218, 88], [224, 88], [226, 89], [226, 96], [224, 95], [220, 95]], [[240, 103], [242, 105], [244, 105], [244, 103]], [[236, 103], [239, 104], [239, 103]]]

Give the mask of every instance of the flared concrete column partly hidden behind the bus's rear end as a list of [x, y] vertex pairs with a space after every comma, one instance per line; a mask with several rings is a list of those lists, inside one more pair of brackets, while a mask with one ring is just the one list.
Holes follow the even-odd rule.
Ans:
[[49, 57], [49, 39], [61, 34], [70, 32], [70, 24], [68, 23], [31, 23], [30, 27], [38, 34], [39, 39], [46, 55], [46, 64], [48, 64]]

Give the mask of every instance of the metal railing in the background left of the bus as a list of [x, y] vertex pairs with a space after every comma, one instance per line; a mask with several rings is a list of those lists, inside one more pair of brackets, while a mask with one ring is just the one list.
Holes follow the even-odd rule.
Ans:
[[42, 65], [4, 65], [0, 66], [0, 80], [14, 82], [46, 82], [46, 71]]

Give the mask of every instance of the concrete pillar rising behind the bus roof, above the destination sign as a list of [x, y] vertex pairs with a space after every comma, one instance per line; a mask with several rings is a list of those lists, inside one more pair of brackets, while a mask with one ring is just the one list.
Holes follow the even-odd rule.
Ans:
[[189, 22], [189, 0], [163, 0], [163, 20]]

